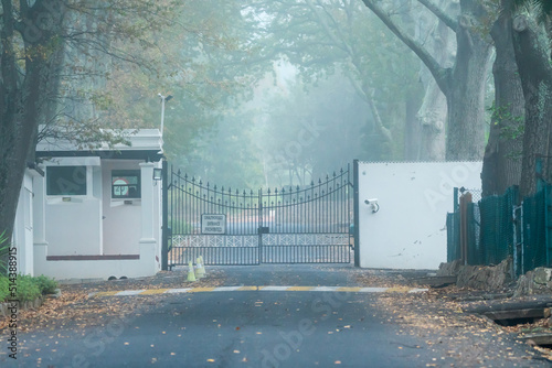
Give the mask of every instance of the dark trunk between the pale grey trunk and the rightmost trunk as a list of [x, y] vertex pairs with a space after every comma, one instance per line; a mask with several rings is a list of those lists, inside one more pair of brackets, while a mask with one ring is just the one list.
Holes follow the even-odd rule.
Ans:
[[482, 196], [502, 194], [521, 180], [526, 101], [512, 44], [512, 18], [502, 4], [491, 29], [496, 59], [495, 107], [481, 172]]

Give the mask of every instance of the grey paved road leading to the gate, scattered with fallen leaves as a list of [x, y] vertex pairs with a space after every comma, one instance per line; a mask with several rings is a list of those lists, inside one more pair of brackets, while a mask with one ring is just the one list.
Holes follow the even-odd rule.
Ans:
[[[354, 286], [347, 268], [236, 268], [227, 285]], [[20, 367], [461, 366], [404, 333], [375, 293], [233, 291], [104, 296], [136, 313], [20, 334]], [[444, 347], [446, 349], [446, 347]], [[2, 361], [3, 360], [3, 361]], [[6, 356], [0, 366], [10, 366]]]

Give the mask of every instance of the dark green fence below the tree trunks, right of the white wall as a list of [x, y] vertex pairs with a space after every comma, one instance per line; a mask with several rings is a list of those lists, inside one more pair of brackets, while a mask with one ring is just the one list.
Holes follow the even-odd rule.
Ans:
[[[537, 267], [552, 267], [552, 185], [543, 185], [518, 204], [518, 188], [492, 195], [466, 206], [466, 230], [456, 195], [454, 213], [447, 214], [447, 260], [466, 264], [498, 264], [511, 257], [517, 275]], [[470, 191], [467, 191], [470, 192]], [[464, 195], [464, 194], [463, 194]], [[477, 199], [478, 193], [474, 195]], [[463, 242], [463, 237], [466, 237]], [[463, 259], [461, 247], [467, 247]]]

